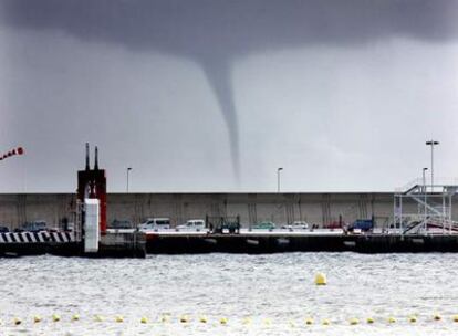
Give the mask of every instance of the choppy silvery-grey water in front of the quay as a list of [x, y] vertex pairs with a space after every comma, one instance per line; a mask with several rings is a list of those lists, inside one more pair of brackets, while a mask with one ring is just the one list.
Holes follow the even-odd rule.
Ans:
[[[452, 335], [457, 262], [458, 254], [354, 253], [0, 259], [0, 335]], [[313, 284], [316, 272], [326, 286]]]

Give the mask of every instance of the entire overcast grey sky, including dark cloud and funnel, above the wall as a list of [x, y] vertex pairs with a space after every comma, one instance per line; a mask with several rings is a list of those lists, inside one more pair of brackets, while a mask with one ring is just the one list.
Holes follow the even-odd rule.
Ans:
[[392, 191], [458, 176], [458, 1], [0, 0], [0, 192]]

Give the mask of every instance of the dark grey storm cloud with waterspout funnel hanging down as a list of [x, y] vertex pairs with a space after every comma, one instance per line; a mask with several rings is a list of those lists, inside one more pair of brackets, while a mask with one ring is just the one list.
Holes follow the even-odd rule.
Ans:
[[[230, 67], [236, 57], [311, 44], [351, 46], [407, 36], [455, 40], [451, 0], [1, 0], [1, 23], [84, 41], [169, 53], [204, 70], [229, 129], [239, 171]], [[305, 61], [304, 61], [305, 62]]]

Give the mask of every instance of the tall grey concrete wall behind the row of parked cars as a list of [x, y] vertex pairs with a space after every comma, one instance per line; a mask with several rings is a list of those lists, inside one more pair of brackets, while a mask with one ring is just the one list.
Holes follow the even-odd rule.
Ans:
[[[108, 223], [129, 220], [139, 223], [148, 217], [170, 218], [174, 225], [188, 219], [240, 216], [242, 225], [260, 221], [278, 224], [304, 220], [320, 227], [339, 221], [369, 219], [377, 225], [393, 218], [391, 192], [341, 193], [108, 193]], [[74, 193], [3, 193], [0, 195], [0, 225], [10, 229], [27, 221], [45, 220], [59, 227], [64, 218], [73, 221]], [[452, 218], [458, 218], [454, 200]], [[405, 203], [415, 212], [415, 204]]]

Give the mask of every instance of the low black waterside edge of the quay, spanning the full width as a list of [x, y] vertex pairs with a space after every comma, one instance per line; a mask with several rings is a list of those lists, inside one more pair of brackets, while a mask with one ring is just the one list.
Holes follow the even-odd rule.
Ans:
[[[12, 234], [12, 233], [11, 233]], [[17, 233], [14, 233], [17, 234]], [[4, 235], [4, 233], [3, 233]], [[219, 233], [110, 233], [97, 253], [84, 253], [75, 241], [10, 242], [0, 244], [0, 256], [55, 254], [63, 256], [144, 258], [149, 254], [280, 253], [280, 252], [458, 252], [458, 234], [342, 234], [250, 232]]]

